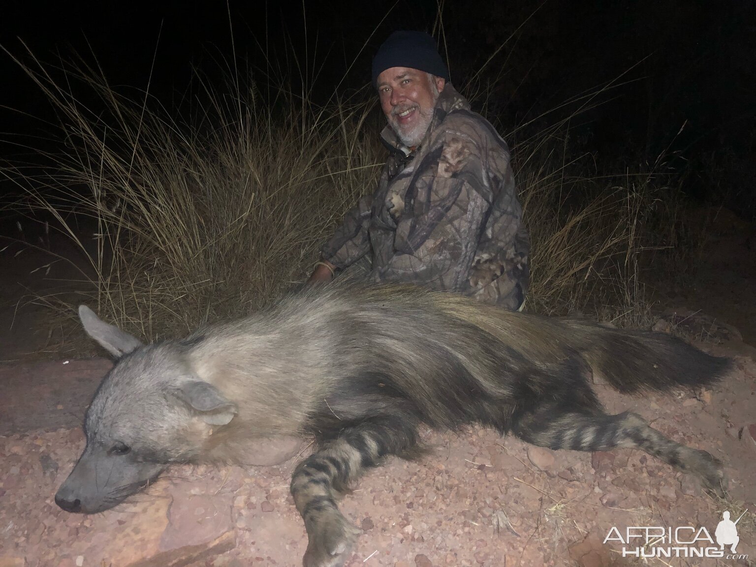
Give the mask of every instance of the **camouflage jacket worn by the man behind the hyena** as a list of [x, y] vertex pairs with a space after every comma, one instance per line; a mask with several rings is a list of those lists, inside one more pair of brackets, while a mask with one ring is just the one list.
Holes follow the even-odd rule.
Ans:
[[344, 269], [370, 258], [370, 279], [417, 283], [516, 309], [528, 289], [529, 240], [510, 152], [449, 84], [420, 147], [386, 126], [391, 155], [321, 250]]

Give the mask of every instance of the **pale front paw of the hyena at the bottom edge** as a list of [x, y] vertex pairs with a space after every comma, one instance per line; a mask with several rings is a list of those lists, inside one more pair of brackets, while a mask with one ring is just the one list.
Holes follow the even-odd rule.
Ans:
[[358, 533], [339, 512], [319, 519], [308, 534], [304, 567], [342, 567], [355, 547]]

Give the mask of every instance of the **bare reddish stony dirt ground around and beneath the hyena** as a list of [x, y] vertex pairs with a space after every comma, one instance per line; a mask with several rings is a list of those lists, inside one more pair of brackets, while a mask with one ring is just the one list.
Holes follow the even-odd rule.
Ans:
[[[702, 493], [695, 479], [639, 451], [548, 451], [484, 429], [426, 431], [432, 454], [416, 463], [390, 460], [342, 500], [345, 516], [362, 531], [347, 565], [751, 564], [756, 559], [756, 333], [751, 327], [756, 293], [750, 290], [756, 287], [756, 270], [739, 239], [740, 234], [726, 234], [715, 242], [705, 260], [711, 268], [703, 271], [699, 286], [664, 305], [673, 324], [689, 325], [692, 336], [707, 339], [699, 343], [702, 349], [733, 356], [736, 370], [697, 395], [630, 398], [596, 385], [609, 411], [636, 411], [665, 435], [723, 460], [730, 477], [727, 500]], [[740, 248], [733, 251], [735, 246]], [[14, 254], [12, 247], [0, 253], [5, 329], [6, 317], [15, 314], [14, 330], [4, 329], [0, 336], [5, 361], [0, 364], [0, 567], [301, 565], [306, 536], [288, 491], [296, 459], [272, 467], [175, 467], [146, 494], [114, 510], [80, 516], [57, 508], [54, 492], [83, 448], [85, 404], [109, 363], [89, 358], [89, 352], [76, 358], [45, 355], [54, 350], [45, 347], [54, 341], [46, 319], [34, 309], [14, 307], [16, 280], [26, 278], [32, 289], [45, 283], [26, 277], [32, 258], [23, 268], [8, 268]], [[51, 277], [59, 276], [52, 271]], [[742, 294], [730, 290], [734, 281], [740, 281]], [[726, 318], [728, 313], [736, 314], [741, 327]], [[655, 547], [682, 545], [658, 541], [640, 550], [646, 543], [641, 538], [623, 546], [618, 538], [626, 537], [629, 526], [673, 532], [691, 526], [699, 539], [682, 545], [686, 553], [693, 553], [691, 547], [718, 550], [705, 534], [714, 538], [725, 510], [733, 520], [745, 511], [737, 555], [749, 559], [622, 556], [623, 547], [648, 554]], [[692, 541], [691, 532], [679, 533], [679, 541]]]

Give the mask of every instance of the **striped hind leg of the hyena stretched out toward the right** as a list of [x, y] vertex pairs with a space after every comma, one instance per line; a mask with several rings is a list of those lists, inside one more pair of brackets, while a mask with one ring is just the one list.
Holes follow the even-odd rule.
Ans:
[[515, 429], [523, 441], [552, 449], [609, 451], [616, 447], [640, 449], [665, 463], [698, 476], [708, 490], [723, 495], [722, 464], [706, 451], [680, 445], [631, 412], [607, 415], [601, 411], [555, 411], [530, 414]]

